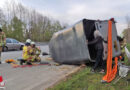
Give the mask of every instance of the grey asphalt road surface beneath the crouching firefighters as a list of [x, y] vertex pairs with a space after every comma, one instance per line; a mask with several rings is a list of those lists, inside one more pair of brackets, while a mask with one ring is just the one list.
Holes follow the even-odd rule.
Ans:
[[[49, 52], [47, 45], [40, 47], [42, 52]], [[77, 68], [77, 66], [73, 65], [55, 66], [55, 62], [46, 60], [49, 56], [41, 56], [41, 58], [43, 61], [51, 63], [51, 66], [13, 68], [10, 64], [4, 63], [6, 59], [16, 60], [21, 57], [22, 51], [2, 53], [3, 64], [0, 64], [0, 74], [2, 74], [5, 81], [5, 90], [44, 90]]]

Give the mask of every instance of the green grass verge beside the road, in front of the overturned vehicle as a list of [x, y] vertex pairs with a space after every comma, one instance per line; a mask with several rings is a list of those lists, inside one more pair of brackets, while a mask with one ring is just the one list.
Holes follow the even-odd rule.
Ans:
[[[130, 50], [130, 44], [127, 45], [127, 48]], [[128, 59], [125, 59], [125, 63], [128, 65]], [[116, 84], [114, 82], [117, 78], [111, 83], [101, 83], [104, 75], [91, 73], [90, 69], [91, 67], [88, 66], [48, 90], [130, 90], [130, 81], [127, 83], [127, 79], [130, 79], [130, 73]]]

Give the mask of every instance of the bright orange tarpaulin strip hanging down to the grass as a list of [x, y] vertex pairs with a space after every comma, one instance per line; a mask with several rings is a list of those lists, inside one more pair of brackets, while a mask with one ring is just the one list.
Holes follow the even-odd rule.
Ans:
[[108, 57], [107, 57], [107, 73], [103, 77], [106, 82], [111, 82], [117, 73], [118, 58], [115, 57], [115, 65], [112, 68], [112, 21], [108, 21]]

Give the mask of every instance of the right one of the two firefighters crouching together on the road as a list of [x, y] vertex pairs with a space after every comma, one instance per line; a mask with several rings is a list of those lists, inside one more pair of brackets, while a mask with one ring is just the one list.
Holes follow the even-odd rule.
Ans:
[[40, 62], [41, 58], [39, 55], [41, 54], [41, 50], [39, 47], [36, 47], [35, 42], [31, 42], [31, 56], [33, 57], [33, 62]]

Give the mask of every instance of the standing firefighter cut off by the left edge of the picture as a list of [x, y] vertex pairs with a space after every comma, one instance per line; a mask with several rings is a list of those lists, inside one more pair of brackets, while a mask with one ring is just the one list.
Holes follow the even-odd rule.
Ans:
[[6, 35], [3, 32], [3, 30], [0, 28], [0, 64], [1, 64], [1, 52], [2, 52], [2, 48], [5, 46], [6, 44]]

